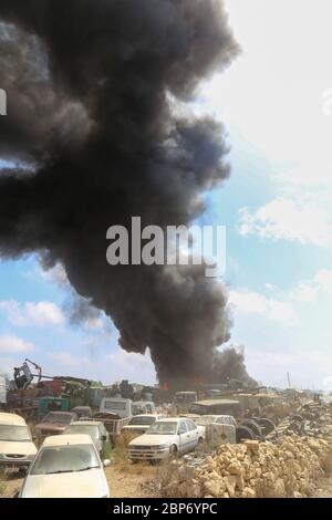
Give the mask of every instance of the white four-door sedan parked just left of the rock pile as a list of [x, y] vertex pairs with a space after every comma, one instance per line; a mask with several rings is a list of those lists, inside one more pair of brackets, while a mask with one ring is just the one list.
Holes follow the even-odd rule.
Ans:
[[157, 420], [128, 444], [131, 460], [160, 460], [195, 449], [203, 437], [190, 419], [173, 417]]

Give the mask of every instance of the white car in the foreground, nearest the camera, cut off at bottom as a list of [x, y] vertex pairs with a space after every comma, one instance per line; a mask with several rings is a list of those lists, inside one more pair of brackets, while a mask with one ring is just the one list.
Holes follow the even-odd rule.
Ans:
[[[108, 465], [110, 460], [104, 460], [104, 466]], [[46, 437], [19, 497], [108, 498], [103, 464], [90, 435]]]

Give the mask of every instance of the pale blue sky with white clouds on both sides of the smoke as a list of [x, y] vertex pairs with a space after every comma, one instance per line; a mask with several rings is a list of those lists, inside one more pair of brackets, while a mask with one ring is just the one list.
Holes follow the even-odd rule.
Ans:
[[[332, 389], [331, 2], [225, 3], [242, 54], [193, 110], [220, 118], [231, 145], [232, 175], [204, 216], [227, 227], [231, 342], [263, 383], [284, 386], [289, 371], [294, 385]], [[105, 316], [69, 323], [68, 293], [61, 270], [33, 257], [0, 263], [0, 372], [28, 356], [50, 375], [153, 382], [148, 355], [120, 350]]]

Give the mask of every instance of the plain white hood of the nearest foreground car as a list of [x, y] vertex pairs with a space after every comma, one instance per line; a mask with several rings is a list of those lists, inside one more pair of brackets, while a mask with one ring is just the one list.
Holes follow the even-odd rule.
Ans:
[[28, 475], [22, 498], [102, 498], [108, 496], [102, 469], [72, 474]]

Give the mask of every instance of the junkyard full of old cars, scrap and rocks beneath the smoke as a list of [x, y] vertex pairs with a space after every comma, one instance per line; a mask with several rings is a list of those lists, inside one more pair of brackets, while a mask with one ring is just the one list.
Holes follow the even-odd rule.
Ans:
[[[172, 393], [123, 381], [95, 388], [69, 376], [43, 379], [39, 365], [25, 360], [7, 382], [6, 402], [2, 395], [1, 497], [329, 495], [329, 398], [237, 386]], [[105, 477], [94, 489], [96, 470]]]

